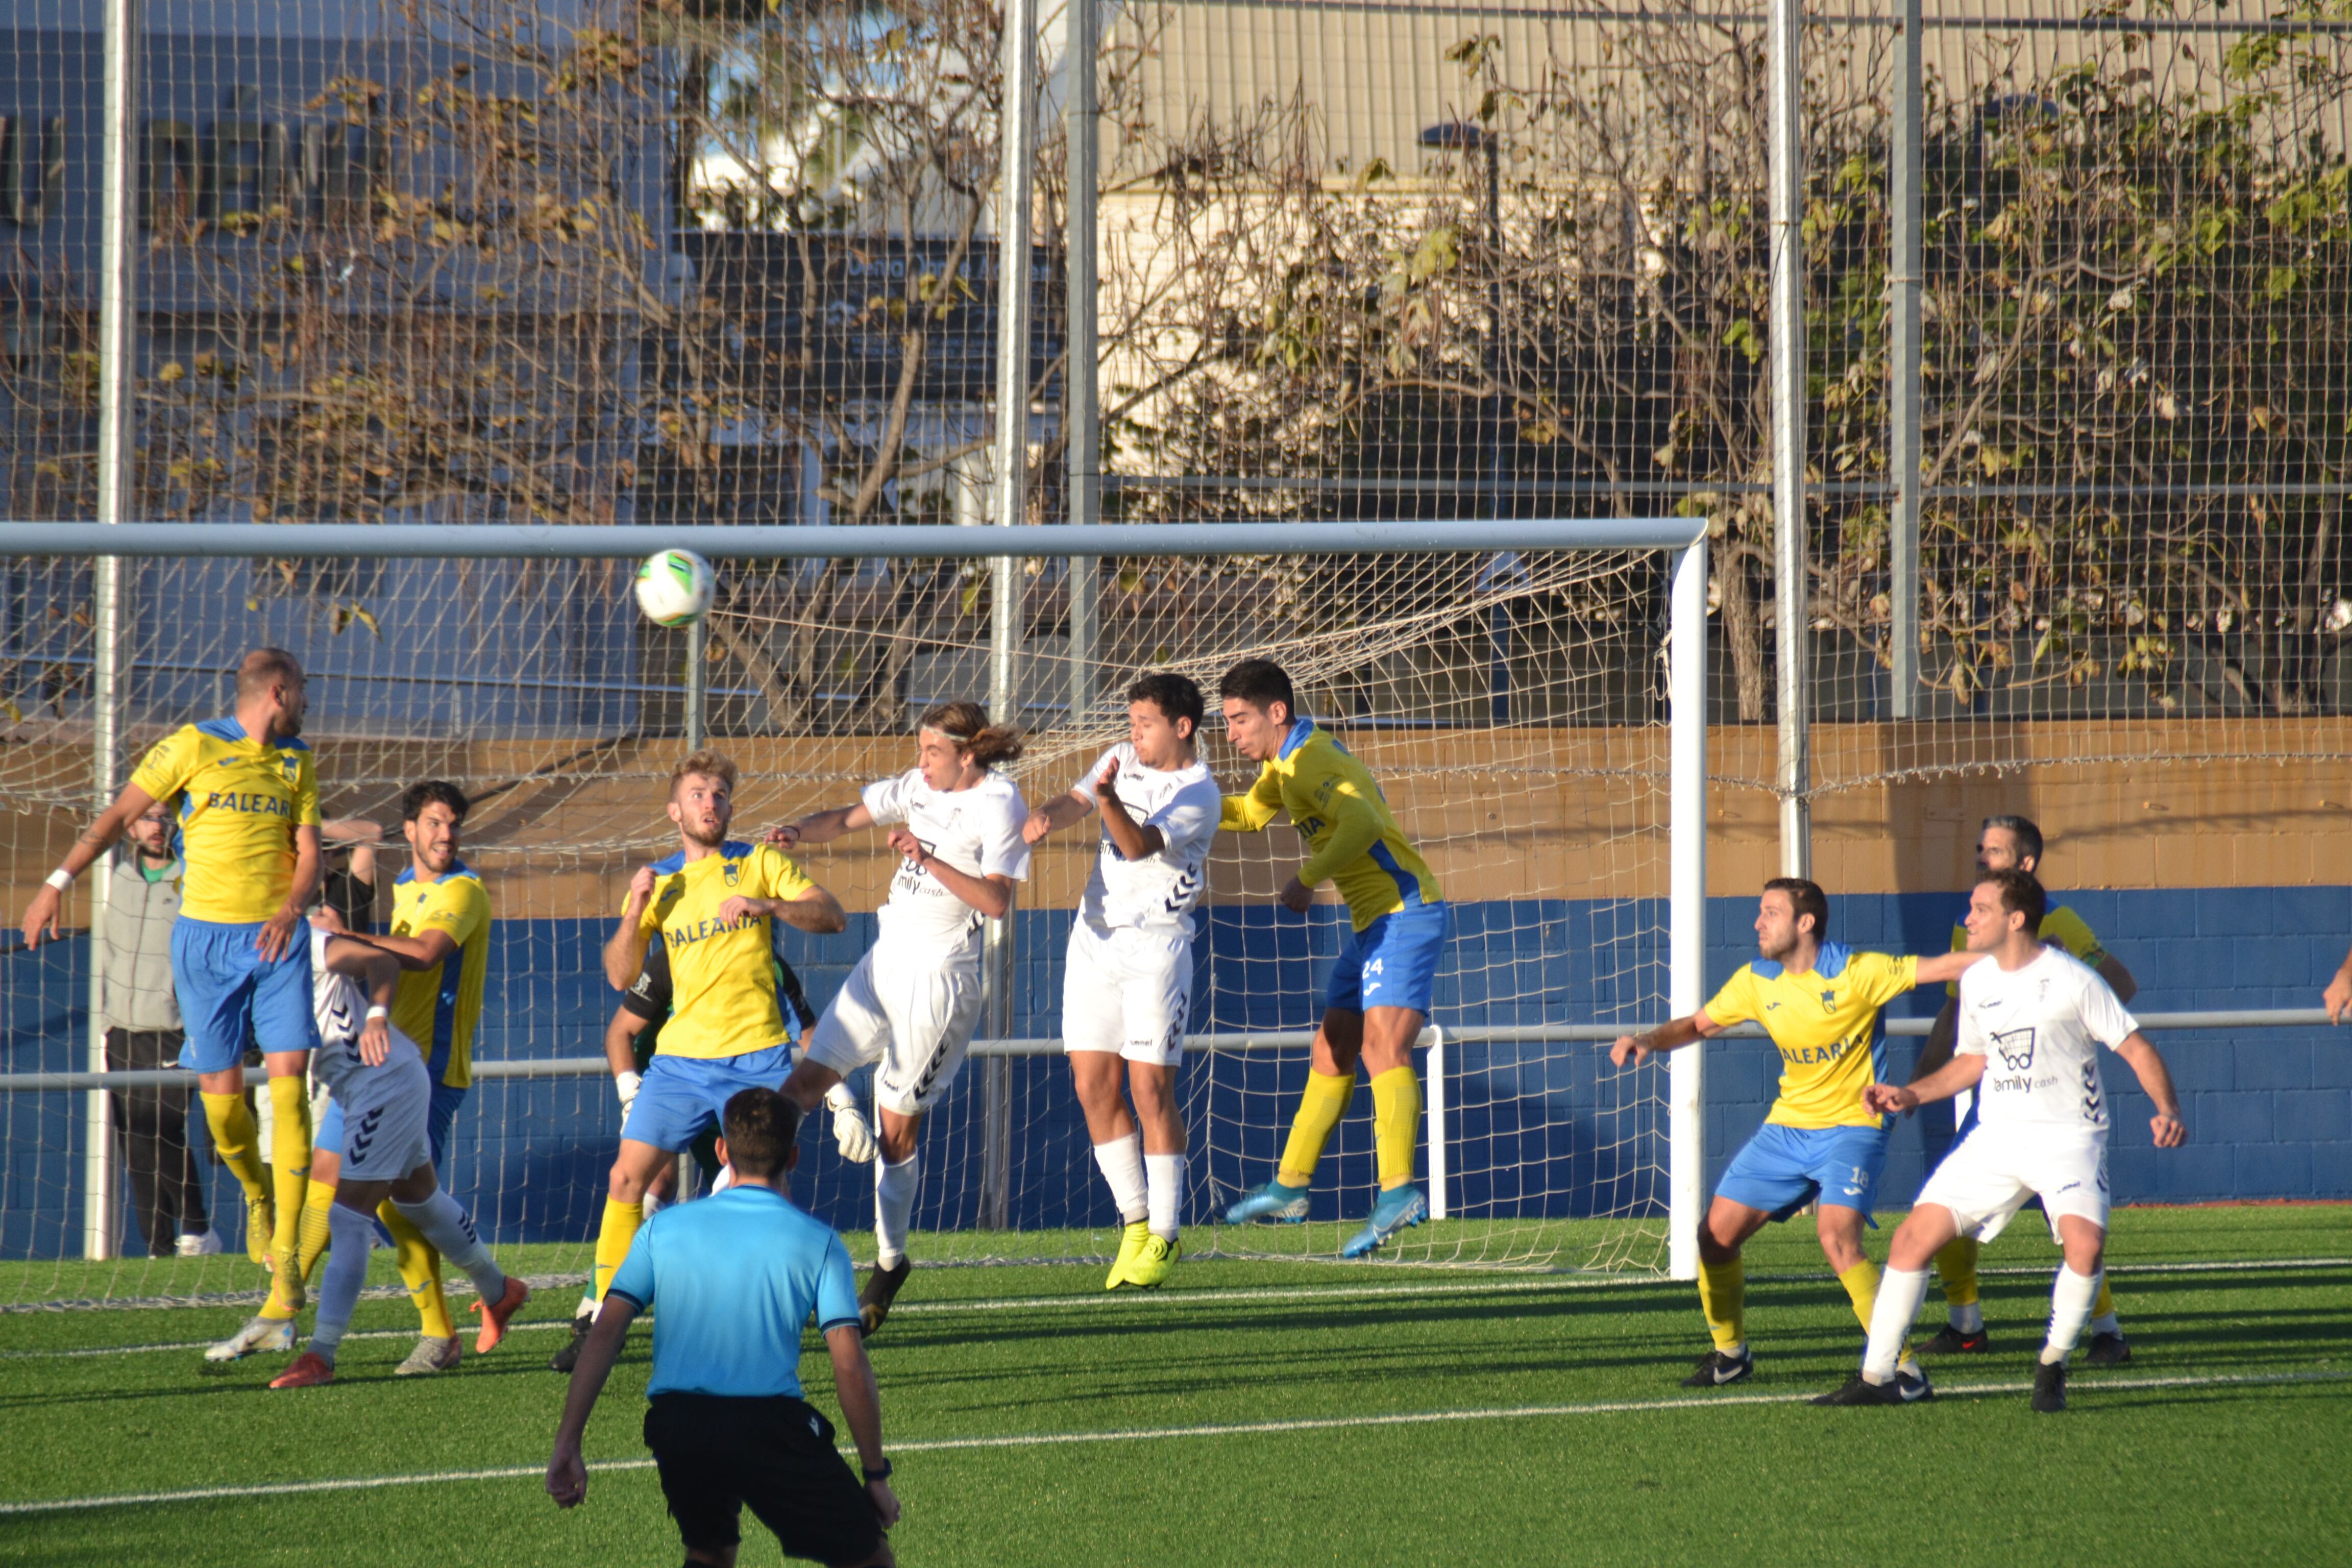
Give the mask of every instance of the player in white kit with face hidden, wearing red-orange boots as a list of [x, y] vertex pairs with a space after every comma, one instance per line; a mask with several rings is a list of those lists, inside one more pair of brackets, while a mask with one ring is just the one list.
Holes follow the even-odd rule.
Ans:
[[[367, 1284], [367, 1253], [376, 1244], [376, 1208], [393, 1201], [409, 1225], [466, 1269], [482, 1293], [482, 1333], [475, 1352], [506, 1338], [506, 1321], [532, 1298], [532, 1288], [499, 1269], [473, 1229], [473, 1218], [440, 1190], [433, 1175], [433, 1074], [407, 1034], [390, 1025], [400, 959], [365, 940], [310, 924], [310, 1006], [318, 1013], [313, 1067], [343, 1107], [343, 1143], [313, 1154], [313, 1178], [325, 1166], [334, 1185], [334, 1244], [318, 1293], [318, 1328], [310, 1349], [270, 1380], [273, 1389], [334, 1382], [334, 1352], [350, 1328], [350, 1309]], [[362, 990], [365, 983], [365, 990]], [[235, 1361], [282, 1321], [256, 1316], [233, 1338], [205, 1352], [209, 1361]]]

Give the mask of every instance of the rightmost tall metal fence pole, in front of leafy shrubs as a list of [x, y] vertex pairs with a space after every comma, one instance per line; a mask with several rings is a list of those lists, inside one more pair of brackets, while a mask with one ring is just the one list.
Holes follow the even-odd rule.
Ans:
[[1889, 418], [1889, 463], [1896, 482], [1893, 536], [1889, 538], [1889, 599], [1893, 599], [1886, 637], [1891, 642], [1893, 717], [1919, 717], [1919, 0], [1903, 0], [1903, 35], [1896, 40], [1896, 125], [1893, 125], [1893, 266], [1889, 268], [1889, 306], [1893, 310], [1893, 402]]

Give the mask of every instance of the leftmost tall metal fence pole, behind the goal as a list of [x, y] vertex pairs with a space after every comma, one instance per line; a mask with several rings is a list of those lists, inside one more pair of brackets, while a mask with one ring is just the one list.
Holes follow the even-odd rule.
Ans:
[[[134, 247], [139, 214], [136, 127], [141, 0], [106, 0], [106, 129], [99, 190], [99, 522], [132, 515], [132, 378], [139, 355]], [[103, 555], [92, 574], [89, 792], [103, 811], [122, 762], [122, 562]], [[108, 860], [89, 867], [89, 1067], [106, 1070], [106, 884]], [[82, 1255], [113, 1258], [122, 1222], [115, 1192], [113, 1095], [92, 1091], [82, 1107]]]

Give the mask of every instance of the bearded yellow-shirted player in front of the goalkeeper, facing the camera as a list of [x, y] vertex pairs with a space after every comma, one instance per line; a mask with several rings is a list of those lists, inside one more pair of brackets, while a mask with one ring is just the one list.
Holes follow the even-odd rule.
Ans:
[[793, 1070], [793, 1032], [776, 1006], [774, 922], [842, 931], [849, 919], [774, 844], [727, 837], [736, 766], [699, 750], [670, 769], [677, 853], [628, 882], [621, 922], [604, 943], [604, 980], [626, 992], [649, 940], [670, 954], [670, 1020], [644, 1079], [626, 1103], [621, 1157], [612, 1164], [604, 1222], [595, 1239], [595, 1293], [644, 1222], [644, 1190], [661, 1166], [717, 1126], [727, 1095], [779, 1088]]

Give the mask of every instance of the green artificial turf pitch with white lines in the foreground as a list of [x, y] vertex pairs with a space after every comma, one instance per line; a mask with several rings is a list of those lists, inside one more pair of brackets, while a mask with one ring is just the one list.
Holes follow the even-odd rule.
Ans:
[[[2352, 1265], [2293, 1262], [2312, 1258], [2352, 1258], [2352, 1211], [2119, 1211], [2133, 1361], [2077, 1371], [2063, 1418], [2023, 1394], [2056, 1265], [2032, 1215], [1985, 1251], [1994, 1352], [1933, 1368], [1945, 1396], [1907, 1410], [1766, 1403], [1835, 1387], [1858, 1354], [1802, 1227], [1750, 1248], [1759, 1371], [1726, 1396], [1677, 1387], [1705, 1331], [1691, 1288], [1656, 1279], [1192, 1260], [1169, 1291], [1103, 1298], [1091, 1265], [917, 1269], [873, 1342], [908, 1509], [894, 1544], [908, 1563], [2336, 1563], [2352, 1540]], [[376, 1269], [390, 1279], [388, 1258]], [[24, 1286], [0, 1269], [0, 1300]], [[348, 1340], [339, 1382], [296, 1392], [266, 1387], [282, 1359], [54, 1354], [195, 1345], [240, 1305], [0, 1314], [0, 1505], [536, 1467], [574, 1295], [546, 1291], [496, 1354], [423, 1380], [390, 1378], [409, 1307], [362, 1302], [355, 1333], [386, 1338]], [[1922, 1328], [1938, 1312], [1931, 1295]], [[644, 1373], [640, 1333], [593, 1462], [644, 1458]], [[804, 1375], [833, 1408], [814, 1340]], [[2272, 1382], [2192, 1382], [2213, 1378]], [[1959, 1394], [1987, 1385], [2002, 1392]], [[1590, 1408], [1623, 1403], [1642, 1408]], [[1555, 1410], [1510, 1415], [1538, 1406]], [[922, 1448], [1421, 1413], [1468, 1418]], [[741, 1561], [779, 1561], [746, 1526]], [[572, 1514], [534, 1474], [0, 1514], [9, 1563], [677, 1559], [647, 1469], [595, 1476]]]

